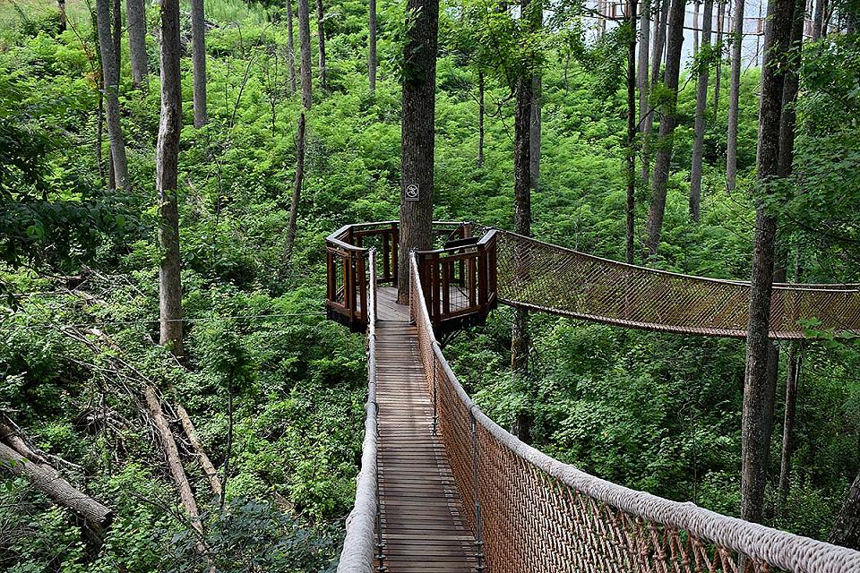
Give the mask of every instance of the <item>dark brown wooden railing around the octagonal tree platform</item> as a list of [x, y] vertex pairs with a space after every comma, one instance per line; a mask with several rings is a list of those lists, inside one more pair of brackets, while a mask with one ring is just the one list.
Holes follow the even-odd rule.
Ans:
[[[433, 251], [417, 252], [434, 328], [480, 324], [496, 304], [495, 230], [472, 237], [472, 226], [434, 221]], [[367, 327], [368, 252], [373, 248], [376, 282], [397, 285], [399, 221], [346, 225], [326, 238], [326, 308], [329, 318], [363, 332]]]

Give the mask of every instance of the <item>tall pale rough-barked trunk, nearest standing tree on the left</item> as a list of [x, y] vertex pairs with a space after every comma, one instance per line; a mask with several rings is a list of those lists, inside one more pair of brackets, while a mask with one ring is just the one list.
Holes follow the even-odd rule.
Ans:
[[179, 260], [178, 160], [182, 130], [182, 81], [179, 77], [179, 0], [161, 0], [161, 120], [156, 144], [159, 192], [160, 343], [174, 355], [182, 350], [182, 281]]

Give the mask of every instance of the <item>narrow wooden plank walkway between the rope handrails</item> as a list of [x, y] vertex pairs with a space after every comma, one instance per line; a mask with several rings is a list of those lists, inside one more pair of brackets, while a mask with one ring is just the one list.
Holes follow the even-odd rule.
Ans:
[[442, 440], [433, 434], [433, 403], [409, 307], [394, 303], [391, 287], [377, 293], [377, 463], [386, 570], [474, 571], [475, 538], [461, 517]]

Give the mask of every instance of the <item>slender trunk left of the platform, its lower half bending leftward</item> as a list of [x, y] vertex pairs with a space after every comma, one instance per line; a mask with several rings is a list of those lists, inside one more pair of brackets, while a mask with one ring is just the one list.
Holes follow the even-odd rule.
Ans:
[[296, 178], [293, 181], [293, 194], [289, 203], [287, 241], [284, 244], [283, 264], [281, 266], [283, 271], [290, 268], [293, 248], [296, 244], [298, 204], [302, 198], [302, 185], [305, 182], [305, 138], [307, 134], [307, 117], [305, 114], [314, 104], [311, 79], [311, 16], [308, 0], [298, 0], [298, 44], [301, 60], [299, 73], [302, 81], [302, 111], [298, 116], [296, 131]]

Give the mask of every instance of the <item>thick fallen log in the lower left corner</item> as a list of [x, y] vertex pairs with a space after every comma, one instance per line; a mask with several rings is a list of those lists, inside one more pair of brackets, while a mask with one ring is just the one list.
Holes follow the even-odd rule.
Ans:
[[13, 475], [27, 478], [39, 492], [83, 517], [96, 532], [107, 529], [113, 521], [112, 509], [75, 489], [53, 467], [36, 464], [3, 442], [0, 442], [0, 466]]

